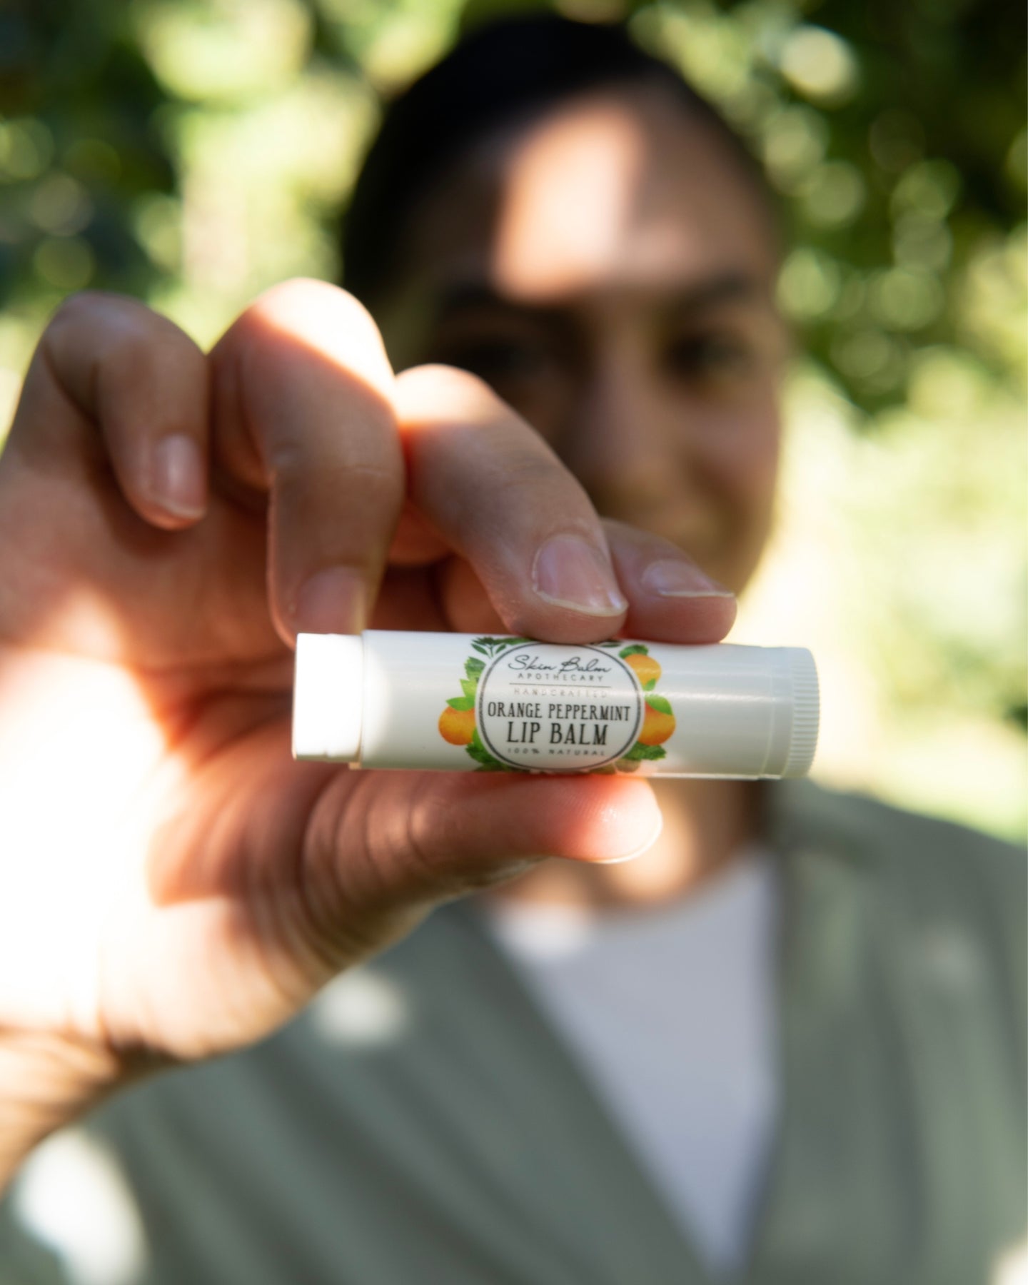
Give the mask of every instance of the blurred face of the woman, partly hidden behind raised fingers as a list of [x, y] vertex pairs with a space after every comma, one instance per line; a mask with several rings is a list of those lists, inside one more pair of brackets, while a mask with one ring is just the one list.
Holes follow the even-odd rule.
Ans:
[[493, 134], [411, 220], [378, 310], [398, 369], [481, 375], [601, 514], [740, 590], [771, 523], [786, 334], [752, 181], [659, 89]]

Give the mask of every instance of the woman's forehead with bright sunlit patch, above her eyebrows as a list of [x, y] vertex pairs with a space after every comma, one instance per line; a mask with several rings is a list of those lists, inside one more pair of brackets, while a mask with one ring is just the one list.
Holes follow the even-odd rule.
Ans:
[[752, 177], [651, 87], [590, 93], [490, 135], [428, 198], [411, 251], [418, 276], [529, 303], [726, 274], [770, 292], [776, 269]]

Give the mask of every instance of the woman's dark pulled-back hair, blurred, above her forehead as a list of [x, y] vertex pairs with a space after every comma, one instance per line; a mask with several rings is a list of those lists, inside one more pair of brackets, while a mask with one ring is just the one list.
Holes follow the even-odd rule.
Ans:
[[419, 199], [472, 144], [518, 117], [605, 85], [659, 85], [709, 125], [771, 204], [757, 162], [717, 111], [621, 24], [555, 14], [475, 30], [396, 98], [368, 153], [343, 224], [343, 284], [369, 302], [388, 281]]

